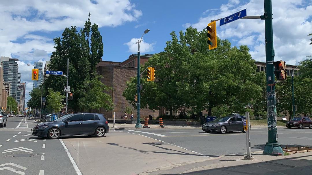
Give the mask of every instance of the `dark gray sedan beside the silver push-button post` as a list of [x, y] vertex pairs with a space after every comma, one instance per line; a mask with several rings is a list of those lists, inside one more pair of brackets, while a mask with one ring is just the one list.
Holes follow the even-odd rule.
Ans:
[[207, 122], [202, 125], [202, 130], [208, 133], [210, 132], [220, 132], [222, 134], [226, 132], [233, 131], [244, 131], [244, 116], [227, 116], [227, 117], [218, 117], [211, 122]]

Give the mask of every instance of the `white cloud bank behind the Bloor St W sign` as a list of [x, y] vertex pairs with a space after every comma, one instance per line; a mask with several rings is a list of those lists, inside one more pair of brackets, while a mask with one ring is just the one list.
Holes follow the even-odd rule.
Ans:
[[[192, 26], [197, 30], [202, 30], [211, 20], [226, 17], [245, 8], [248, 16], [259, 16], [264, 13], [264, 2], [259, 0], [229, 1], [227, 4], [222, 4], [217, 11], [210, 12], [208, 16], [200, 17], [198, 22], [186, 23], [183, 26]], [[312, 29], [312, 5], [304, 0], [275, 0], [272, 1], [272, 11], [275, 60], [285, 60], [287, 64], [298, 64], [311, 54], [307, 35]], [[247, 44], [251, 48], [250, 53], [253, 59], [265, 61], [264, 20], [240, 19], [221, 27], [218, 26], [217, 35], [221, 39], [238, 40], [238, 44]]]

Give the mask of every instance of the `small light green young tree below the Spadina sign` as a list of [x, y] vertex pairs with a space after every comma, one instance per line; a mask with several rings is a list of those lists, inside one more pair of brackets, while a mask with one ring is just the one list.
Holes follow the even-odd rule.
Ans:
[[58, 113], [62, 106], [64, 106], [63, 101], [65, 98], [65, 95], [62, 95], [58, 91], [54, 91], [53, 89], [48, 89], [48, 98], [47, 98], [47, 107], [50, 108], [55, 113]]

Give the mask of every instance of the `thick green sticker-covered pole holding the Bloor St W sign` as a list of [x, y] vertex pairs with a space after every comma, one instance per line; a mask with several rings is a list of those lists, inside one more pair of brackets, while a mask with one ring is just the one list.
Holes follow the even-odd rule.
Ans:
[[276, 98], [275, 98], [275, 76], [273, 49], [273, 26], [272, 26], [272, 1], [264, 0], [264, 23], [266, 37], [266, 99], [268, 117], [268, 142], [263, 150], [265, 155], [282, 155], [283, 150], [278, 143], [277, 121], [276, 121]]

